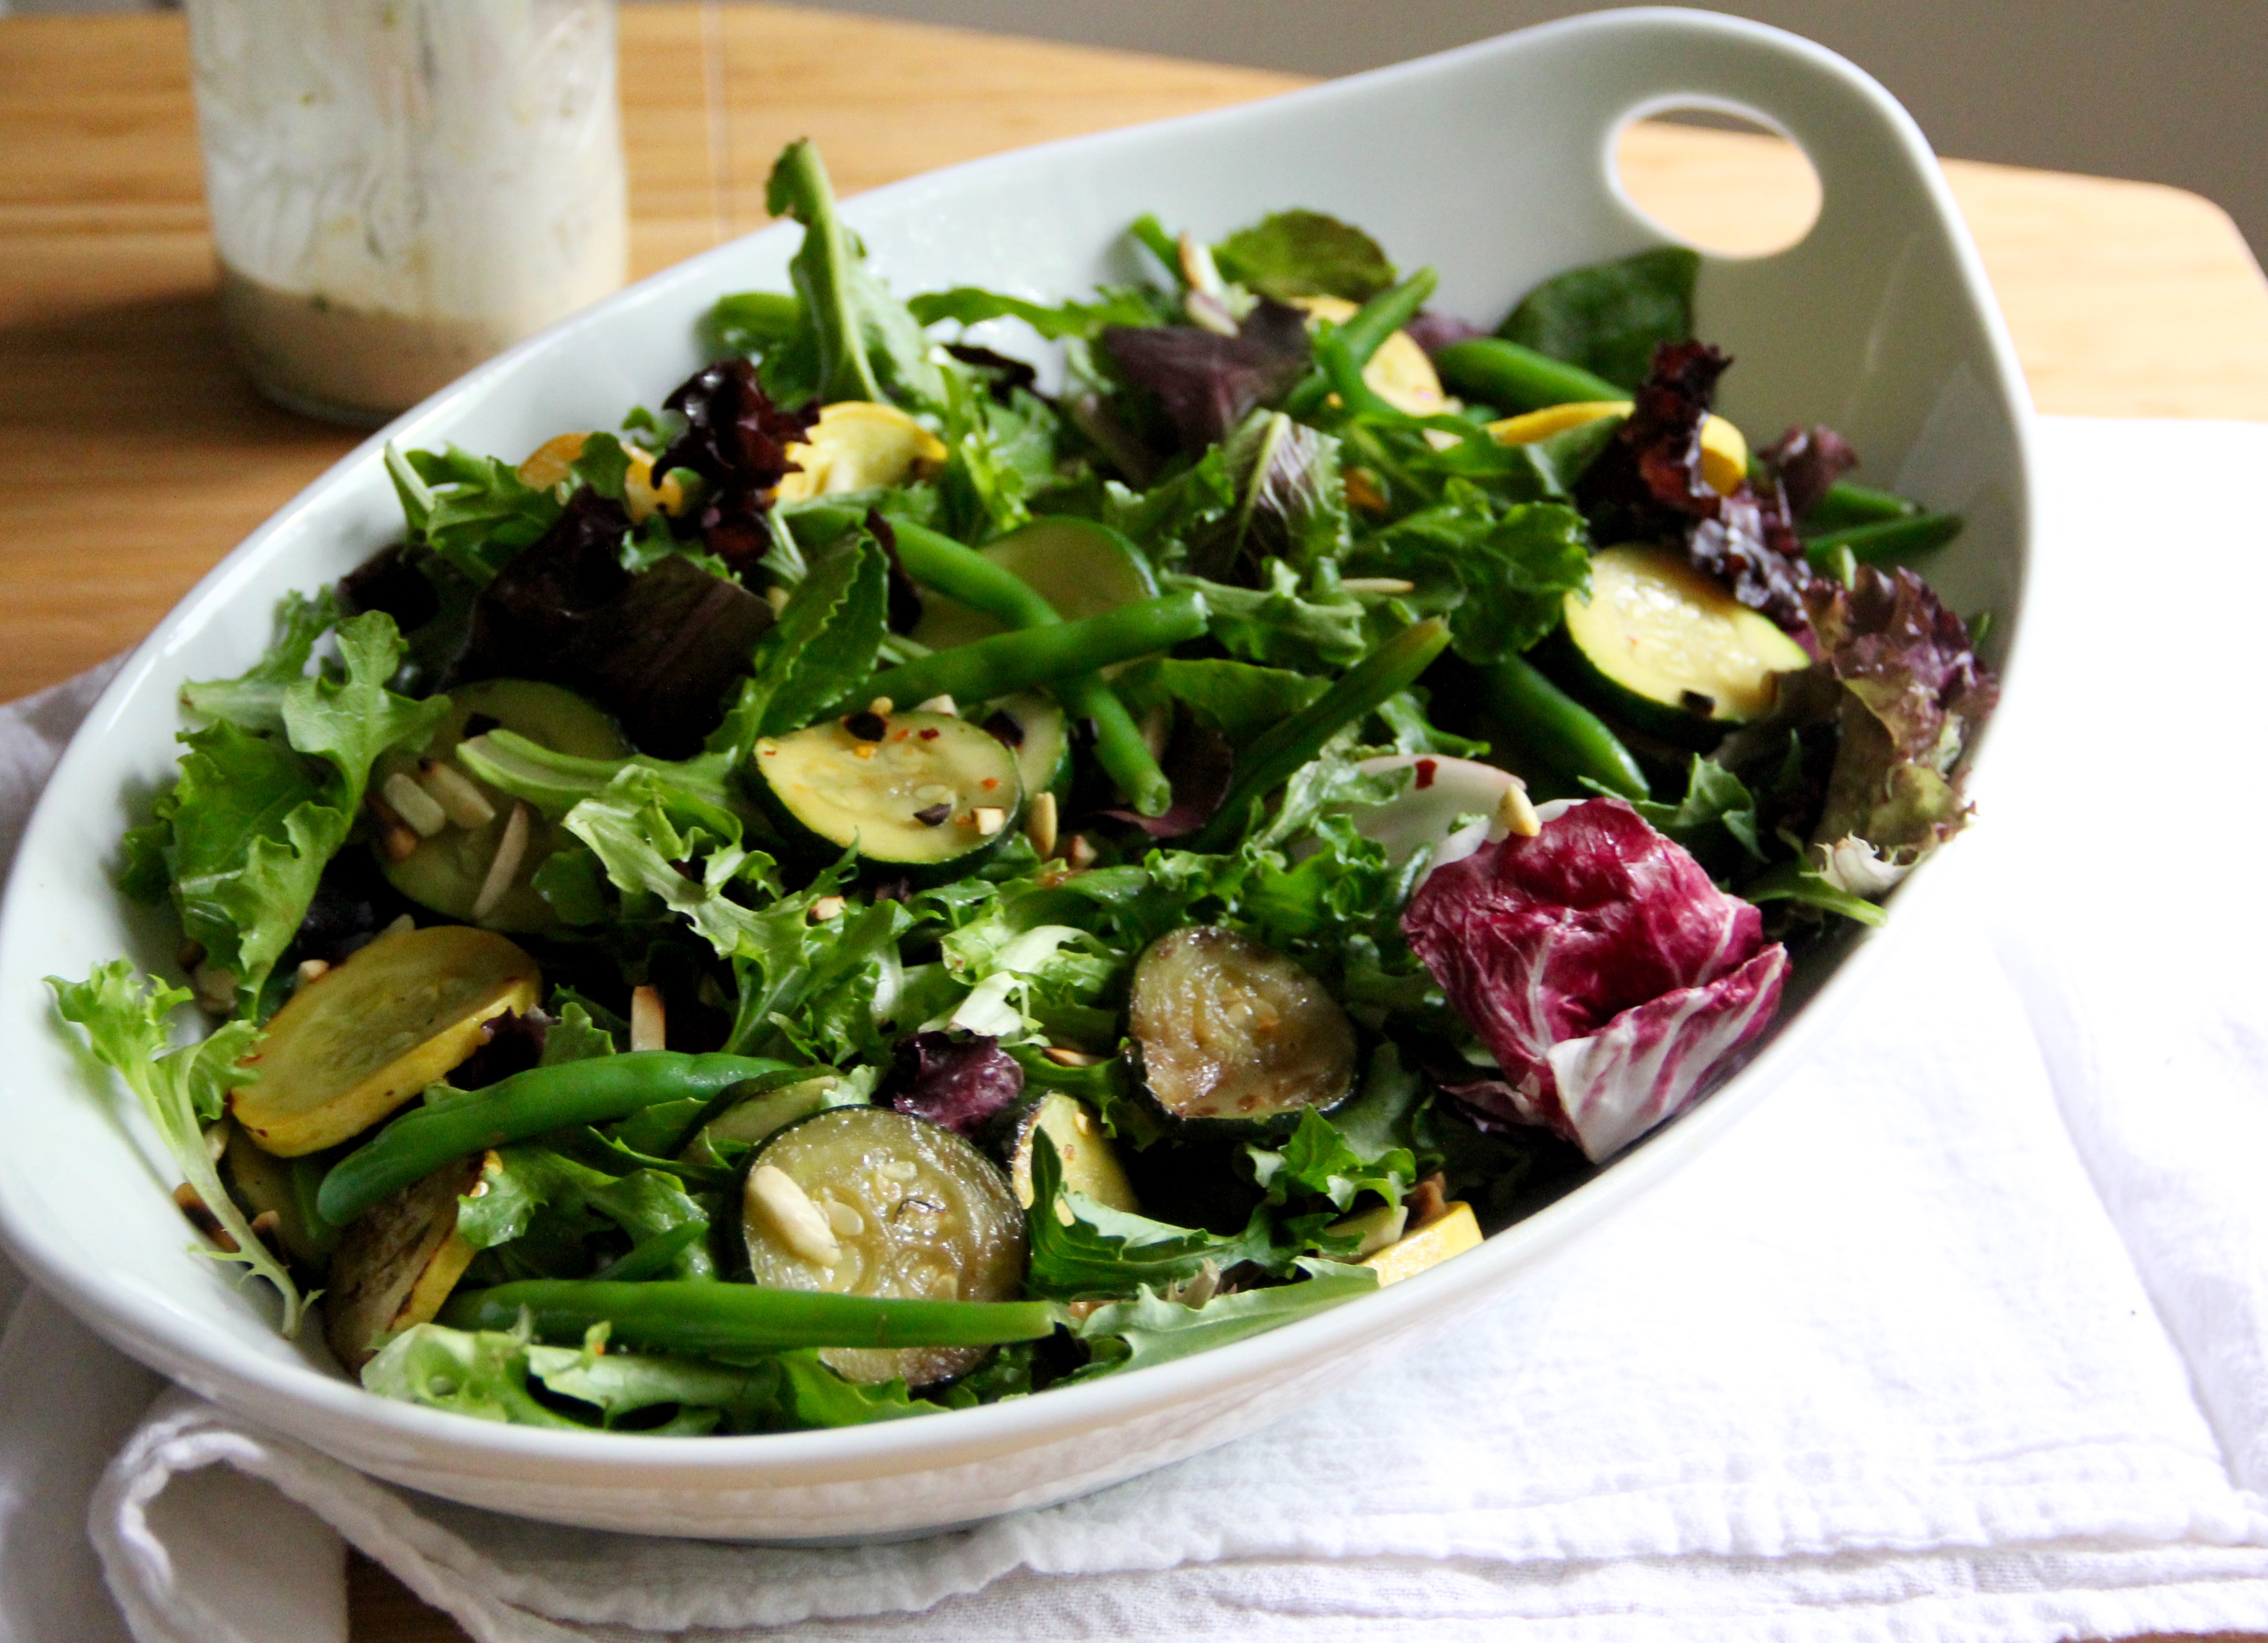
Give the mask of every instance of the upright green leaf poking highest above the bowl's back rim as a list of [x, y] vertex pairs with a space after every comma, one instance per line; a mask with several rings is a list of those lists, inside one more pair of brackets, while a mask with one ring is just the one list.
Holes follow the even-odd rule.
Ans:
[[835, 213], [835, 188], [810, 138], [780, 150], [764, 209], [803, 225], [803, 247], [787, 268], [805, 329], [816, 336], [819, 397], [939, 408], [943, 374], [930, 361], [930, 338], [866, 268], [866, 250]]

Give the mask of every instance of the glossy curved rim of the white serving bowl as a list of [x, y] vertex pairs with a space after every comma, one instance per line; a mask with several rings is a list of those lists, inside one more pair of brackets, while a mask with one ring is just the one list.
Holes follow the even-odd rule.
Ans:
[[[1955, 225], [1953, 252], [1969, 297], [1984, 320], [1987, 343], [1996, 356], [2000, 377], [1996, 386], [2003, 390], [2014, 418], [2016, 461], [2021, 465], [2025, 495], [2037, 497], [2028, 438], [2030, 399], [2023, 390], [2023, 377], [2016, 368], [2014, 347], [2000, 325], [1998, 309], [1991, 302], [1982, 263], [1978, 261], [1966, 234], [1957, 227], [1960, 216], [1941, 175], [1937, 172], [1928, 143], [1887, 91], [1842, 57], [1801, 36], [1742, 18], [1681, 7], [1590, 14], [1524, 30], [1515, 36], [1481, 41], [1438, 57], [1293, 91], [1286, 93], [1286, 98], [1182, 116], [1179, 120], [1163, 125], [1182, 129], [1229, 129], [1238, 123], [1252, 120], [1254, 116], [1266, 118], [1266, 109], [1286, 100], [1329, 104], [1340, 98], [1359, 98], [1365, 89], [1381, 82], [1422, 79], [1438, 73], [1442, 66], [1465, 64], [1474, 57], [1508, 50], [1515, 41], [1526, 43], [1540, 36], [1608, 36], [1619, 32], [1658, 30], [1687, 32], [1694, 36], [1746, 36], [1749, 41], [1765, 43], [1771, 50], [1810, 59], [1812, 68], [1844, 79], [1851, 89], [1876, 104], [1876, 109], [1887, 116], [1889, 125], [1901, 132], [1907, 161], [1926, 179], [1939, 213]], [[1046, 148], [1064, 152], [1089, 145], [1123, 143], [1129, 138], [1139, 141], [1141, 134], [1150, 129], [1157, 127], [1100, 132], [1050, 143]], [[971, 172], [984, 172], [996, 166], [1014, 163], [1016, 159], [1016, 154], [1000, 154], [955, 166], [948, 172], [889, 184], [848, 202], [846, 213], [855, 220], [866, 209], [916, 197], [921, 191], [930, 188], [937, 177], [966, 177]], [[780, 225], [762, 229], [760, 234], [780, 231], [792, 229]], [[376, 461], [386, 440], [413, 433], [420, 422], [433, 420], [454, 406], [463, 406], [508, 384], [524, 359], [535, 352], [547, 352], [594, 327], [606, 327], [617, 309], [635, 302], [642, 293], [687, 281], [705, 281], [710, 270], [730, 261], [737, 250], [748, 243], [748, 238], [760, 236], [746, 236], [744, 241], [712, 247], [699, 256], [660, 270], [635, 286], [628, 286], [615, 297], [608, 297], [578, 315], [562, 320], [549, 331], [542, 331], [499, 359], [476, 368], [442, 393], [397, 418], [388, 429], [374, 433], [352, 454], [342, 456], [320, 479], [302, 490], [299, 497], [279, 508], [265, 524], [245, 538], [245, 542], [222, 558], [188, 592], [188, 597], [184, 597], [181, 604], [168, 613], [156, 631], [152, 631], [152, 635], [132, 654], [118, 679], [113, 679], [102, 692], [86, 719], [86, 726], [98, 731], [116, 703], [129, 697], [141, 681], [161, 665], [179, 629], [215, 601], [225, 601], [231, 592], [231, 583], [240, 581], [249, 574], [249, 570], [263, 563], [279, 538], [284, 538], [308, 508], [333, 490], [345, 474]], [[2028, 538], [2030, 522], [2025, 522], [2025, 533], [2019, 540], [2019, 563], [2028, 558]], [[82, 740], [84, 733], [82, 738], [75, 738], [73, 749], [66, 751], [66, 765], [70, 762], [70, 756], [79, 751]], [[59, 774], [61, 772], [64, 767], [59, 767]], [[23, 874], [25, 865], [18, 860], [16, 871], [9, 878], [11, 892]], [[1916, 892], [1932, 890], [1935, 878], [1939, 876], [1923, 874], [1903, 887], [1898, 892], [1901, 905], [1912, 901]], [[11, 894], [9, 903], [14, 901], [16, 896]], [[1284, 1368], [1293, 1359], [1331, 1355], [1361, 1346], [1368, 1339], [1406, 1330], [1458, 1298], [1476, 1298], [1499, 1287], [1522, 1266], [1535, 1262], [1549, 1250], [1556, 1250], [1606, 1214], [1613, 1214], [1642, 1191], [1651, 1189], [1746, 1117], [1857, 999], [1867, 976], [1889, 951], [1892, 942], [1887, 937], [1896, 937], [1901, 928], [1914, 924], [1912, 912], [1914, 908], [1905, 908], [1907, 917], [1898, 917], [1880, 935], [1857, 942], [1855, 951], [1842, 960], [1837, 974], [1828, 978], [1821, 992], [1780, 1028], [1780, 1033], [1749, 1067], [1735, 1073], [1708, 1101], [1694, 1105], [1672, 1126], [1665, 1126], [1640, 1141], [1633, 1151], [1613, 1160], [1608, 1169], [1565, 1198], [1547, 1205], [1504, 1232], [1497, 1232], [1481, 1248], [1458, 1257], [1456, 1262], [1436, 1266], [1390, 1289], [1365, 1296], [1359, 1305], [1336, 1307], [1245, 1341], [1211, 1348], [1188, 1359], [1159, 1364], [1132, 1375], [1050, 1389], [1041, 1398], [957, 1409], [921, 1421], [894, 1421], [816, 1432], [712, 1436], [699, 1443], [637, 1434], [583, 1434], [519, 1425], [490, 1425], [381, 1398], [363, 1391], [354, 1382], [324, 1375], [313, 1366], [247, 1353], [227, 1341], [227, 1337], [218, 1337], [195, 1325], [191, 1318], [159, 1307], [152, 1298], [134, 1294], [129, 1287], [111, 1284], [102, 1271], [82, 1264], [70, 1248], [43, 1237], [36, 1216], [18, 1212], [5, 1194], [5, 1182], [0, 1182], [0, 1244], [5, 1244], [7, 1253], [84, 1323], [109, 1339], [129, 1346], [129, 1350], [136, 1350], [136, 1355], [152, 1359], [161, 1368], [179, 1373], [193, 1382], [215, 1387], [225, 1402], [234, 1402], [256, 1418], [263, 1414], [263, 1405], [270, 1409], [274, 1407], [272, 1400], [293, 1405], [297, 1412], [320, 1418], [331, 1432], [340, 1432], [345, 1448], [367, 1452], [383, 1446], [388, 1450], [399, 1450], [406, 1441], [417, 1455], [417, 1466], [426, 1473], [481, 1473], [490, 1471], [492, 1461], [503, 1461], [519, 1464], [522, 1468], [535, 1464], [540, 1473], [558, 1471], [565, 1475], [572, 1471], [583, 1477], [587, 1477], [592, 1468], [601, 1468], [606, 1473], [624, 1473], [624, 1482], [631, 1482], [628, 1475], [640, 1475], [644, 1480], [676, 1475], [687, 1482], [694, 1477], [737, 1475], [739, 1480], [753, 1484], [762, 1482], [767, 1475], [785, 1480], [789, 1475], [814, 1473], [871, 1473], [875, 1471], [873, 1461], [882, 1457], [891, 1461], [887, 1471], [907, 1471], [921, 1464], [950, 1464], [957, 1457], [973, 1459], [1007, 1448], [1027, 1448], [1050, 1439], [1075, 1436], [1080, 1432], [1107, 1427], [1120, 1421], [1134, 1421], [1159, 1407], [1184, 1402], [1204, 1389], [1220, 1389], [1256, 1377], [1270, 1368]], [[281, 1421], [281, 1425], [299, 1423]], [[352, 1432], [352, 1436], [345, 1436], [345, 1432]], [[451, 1466], [451, 1455], [460, 1455], [463, 1461]]]

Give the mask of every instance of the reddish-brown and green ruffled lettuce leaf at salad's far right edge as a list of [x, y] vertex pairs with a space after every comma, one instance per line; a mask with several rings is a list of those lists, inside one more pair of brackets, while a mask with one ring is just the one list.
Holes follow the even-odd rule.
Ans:
[[1912, 862], [1966, 821], [1953, 767], [2000, 685], [1969, 629], [1910, 570], [1862, 567], [1805, 595], [1823, 669], [1842, 681], [1842, 744], [1812, 842], [1851, 837]]

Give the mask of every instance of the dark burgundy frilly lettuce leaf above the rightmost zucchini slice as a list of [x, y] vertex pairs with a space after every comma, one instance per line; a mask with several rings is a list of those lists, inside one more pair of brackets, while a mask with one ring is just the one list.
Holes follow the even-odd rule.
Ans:
[[1708, 343], [1665, 343], [1631, 415], [1583, 472], [1576, 499], [1597, 542], [1662, 542], [1780, 626], [1803, 626], [1812, 574], [1780, 488], [1719, 497], [1701, 477], [1701, 422], [1733, 361]]

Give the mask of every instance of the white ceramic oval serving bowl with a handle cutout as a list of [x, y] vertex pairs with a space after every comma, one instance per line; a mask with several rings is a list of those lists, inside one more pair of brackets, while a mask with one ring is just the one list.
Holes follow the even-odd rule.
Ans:
[[[1966, 513], [1930, 576], [1953, 608], [1996, 613], [1991, 649], [2005, 656], [2030, 520], [2014, 354], [1912, 120], [1853, 66], [1789, 34], [1701, 11], [1597, 14], [916, 177], [853, 200], [846, 216], [900, 293], [984, 284], [1061, 297], [1134, 275], [1123, 229], [1141, 211], [1216, 236], [1302, 204], [1361, 222], [1404, 268], [1440, 268], [1440, 311], [1495, 322], [1545, 275], [1662, 238], [1624, 197], [1610, 154], [1622, 127], [1669, 104], [1762, 118], [1805, 148], [1823, 186], [1801, 245], [1712, 259], [1701, 275], [1701, 331], [1740, 361], [1721, 408], [1760, 440], [1830, 422], [1864, 452], [1869, 479]], [[0, 915], [9, 1253], [175, 1380], [454, 1500], [653, 1534], [853, 1539], [1064, 1500], [1193, 1455], [1486, 1305], [1685, 1164], [1803, 1060], [1882, 953], [1871, 937], [1817, 955], [1742, 1073], [1483, 1248], [1193, 1359], [925, 1421], [699, 1441], [488, 1425], [361, 1391], [315, 1330], [297, 1343], [272, 1330], [263, 1287], [238, 1289], [184, 1248], [163, 1151], [122, 1092], [88, 1078], [41, 978], [77, 978], [118, 953], [175, 971], [163, 921], [109, 885], [113, 842], [170, 781], [177, 688], [240, 672], [284, 590], [331, 581], [399, 536], [381, 440], [517, 456], [560, 429], [612, 427], [701, 363], [694, 322], [719, 293], [785, 288], [796, 243], [794, 227], [753, 234], [553, 327], [404, 415], [254, 531], [86, 719]]]

